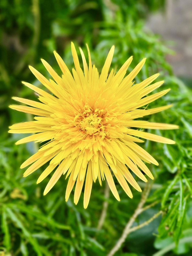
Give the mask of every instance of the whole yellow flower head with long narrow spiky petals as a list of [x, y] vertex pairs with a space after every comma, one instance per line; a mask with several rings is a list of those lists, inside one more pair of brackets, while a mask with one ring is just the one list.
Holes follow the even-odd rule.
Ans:
[[16, 144], [31, 141], [45, 143], [37, 153], [21, 165], [21, 168], [30, 165], [24, 177], [50, 161], [37, 180], [37, 183], [41, 182], [56, 169], [45, 188], [44, 195], [50, 191], [62, 174], [66, 174], [66, 178], [69, 176], [66, 201], [76, 183], [74, 203], [77, 204], [85, 180], [84, 208], [87, 208], [89, 203], [92, 183], [97, 179], [101, 185], [106, 178], [117, 200], [120, 198], [112, 174], [130, 198], [133, 196], [127, 182], [141, 191], [130, 170], [145, 182], [147, 179], [143, 173], [153, 179], [152, 173], [143, 161], [155, 165], [158, 163], [137, 143], [143, 142], [140, 138], [168, 144], [175, 142], [136, 128], [163, 130], [178, 128], [173, 124], [135, 120], [171, 106], [139, 109], [169, 91], [169, 89], [163, 90], [146, 96], [163, 84], [163, 81], [151, 84], [159, 74], [133, 85], [133, 79], [143, 67], [145, 59], [127, 76], [125, 74], [132, 57], [117, 73], [114, 73], [113, 69], [109, 73], [114, 53], [114, 46], [112, 46], [99, 75], [95, 65], [92, 66], [88, 46], [87, 49], [89, 65], [80, 48], [84, 72], [80, 68], [73, 43], [71, 43], [71, 50], [75, 69], [72, 69], [72, 74], [57, 52], [54, 52], [54, 55], [63, 73], [61, 77], [45, 60], [42, 60], [42, 63], [54, 80], [47, 80], [36, 69], [29, 66], [34, 76], [50, 93], [23, 82], [25, 86], [39, 94], [40, 102], [14, 97], [14, 100], [29, 106], [10, 105], [10, 108], [35, 115], [35, 121], [9, 127], [10, 133], [34, 133], [17, 141]]

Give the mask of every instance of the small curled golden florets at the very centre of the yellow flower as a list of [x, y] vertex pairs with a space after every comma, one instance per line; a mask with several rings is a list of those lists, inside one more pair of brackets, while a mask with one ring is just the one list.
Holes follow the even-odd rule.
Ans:
[[93, 110], [91, 106], [86, 105], [76, 119], [78, 127], [85, 135], [99, 135], [105, 137], [105, 126], [103, 124], [103, 111], [101, 109]]

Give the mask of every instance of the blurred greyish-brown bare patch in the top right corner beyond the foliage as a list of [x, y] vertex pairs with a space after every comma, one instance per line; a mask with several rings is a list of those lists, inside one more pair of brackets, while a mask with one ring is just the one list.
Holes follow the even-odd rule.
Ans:
[[163, 11], [151, 14], [147, 27], [163, 39], [170, 40], [166, 44], [175, 51], [167, 60], [174, 73], [191, 80], [192, 72], [192, 1], [167, 0]]

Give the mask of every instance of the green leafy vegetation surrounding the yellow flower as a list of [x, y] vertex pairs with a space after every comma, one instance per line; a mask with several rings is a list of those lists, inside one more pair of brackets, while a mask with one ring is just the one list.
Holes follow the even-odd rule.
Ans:
[[[164, 8], [164, 1], [1, 0], [0, 255], [107, 255], [135, 209], [138, 210], [141, 193], [134, 190], [131, 200], [118, 184], [120, 202], [109, 193], [107, 186], [94, 184], [87, 210], [83, 208], [83, 196], [77, 206], [73, 204], [72, 195], [65, 202], [67, 182], [64, 179], [43, 196], [49, 177], [36, 184], [42, 168], [27, 178], [23, 178], [23, 170], [19, 168], [38, 150], [38, 145], [16, 146], [14, 143], [23, 135], [7, 134], [10, 124], [33, 118], [8, 109], [11, 97], [37, 98], [20, 81], [41, 87], [28, 69], [28, 65], [32, 65], [48, 76], [40, 58], [60, 73], [52, 53], [55, 49], [67, 65], [73, 67], [71, 41], [84, 50], [88, 43], [93, 62], [100, 70], [113, 44], [116, 47], [114, 67], [119, 68], [133, 55], [131, 70], [147, 57], [136, 82], [160, 72], [160, 79], [165, 80], [163, 88], [172, 89], [150, 107], [174, 104], [150, 120], [180, 126], [176, 131], [156, 131], [173, 138], [175, 145], [146, 141], [144, 147], [159, 162], [159, 166], [150, 166], [155, 180], [143, 192], [146, 198], [142, 198], [145, 204], [141, 208], [148, 207], [136, 211], [129, 235], [115, 255], [191, 255], [192, 94], [173, 75], [166, 61], [166, 55], [172, 52], [144, 26], [147, 14], [159, 8]], [[145, 187], [144, 183], [139, 184]], [[141, 223], [145, 226], [138, 229]]]

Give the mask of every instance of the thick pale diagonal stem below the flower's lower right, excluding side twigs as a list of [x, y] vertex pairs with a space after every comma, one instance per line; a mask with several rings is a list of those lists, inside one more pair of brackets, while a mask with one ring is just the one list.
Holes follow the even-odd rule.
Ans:
[[119, 240], [117, 241], [117, 243], [111, 249], [111, 251], [108, 253], [107, 256], [113, 256], [115, 254], [115, 252], [118, 251], [119, 248], [121, 247], [121, 245], [124, 243], [127, 235], [130, 233], [131, 226], [135, 222], [135, 219], [137, 218], [137, 216], [141, 213], [141, 209], [143, 208], [143, 205], [145, 204], [145, 202], [147, 200], [147, 197], [149, 195], [151, 187], [152, 187], [152, 183], [151, 184], [150, 183], [146, 184], [146, 186], [143, 190], [142, 196], [141, 196], [141, 200], [140, 200], [139, 204], [137, 205], [137, 208], [136, 208], [134, 214], [132, 215], [130, 220], [127, 222], [127, 225], [125, 226], [121, 237], [119, 238]]

